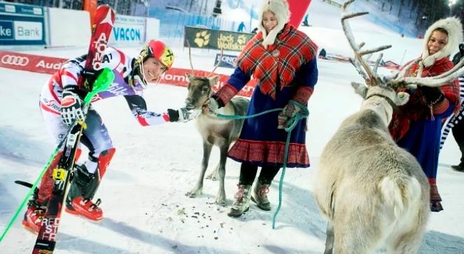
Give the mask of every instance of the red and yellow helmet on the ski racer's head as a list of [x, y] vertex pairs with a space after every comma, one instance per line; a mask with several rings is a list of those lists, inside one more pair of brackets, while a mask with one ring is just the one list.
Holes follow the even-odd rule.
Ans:
[[171, 68], [172, 63], [174, 63], [174, 53], [161, 40], [150, 40], [144, 45], [139, 56], [136, 57], [135, 66], [141, 66], [143, 61], [148, 59], [148, 57], [157, 59], [166, 68]]

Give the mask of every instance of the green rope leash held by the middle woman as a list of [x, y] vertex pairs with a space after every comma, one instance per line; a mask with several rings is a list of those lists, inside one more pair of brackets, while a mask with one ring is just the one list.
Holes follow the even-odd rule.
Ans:
[[[274, 213], [274, 217], [272, 218], [272, 229], [275, 228], [277, 214], [279, 214], [279, 211], [281, 210], [281, 206], [282, 206], [283, 177], [285, 177], [285, 172], [286, 172], [286, 167], [287, 167], [288, 147], [290, 147], [290, 136], [292, 134], [292, 130], [295, 128], [295, 126], [297, 126], [298, 121], [309, 116], [309, 110], [305, 105], [302, 105], [301, 103], [298, 103], [295, 100], [290, 100], [289, 103], [295, 105], [295, 107], [299, 108], [300, 111], [298, 111], [293, 117], [290, 117], [290, 119], [288, 119], [288, 121], [286, 122], [285, 131], [288, 134], [287, 134], [287, 140], [285, 143], [285, 151], [284, 151], [284, 156], [283, 156], [282, 174], [281, 174], [281, 179], [279, 181], [279, 206], [277, 207], [276, 212]], [[211, 114], [215, 115], [216, 117], [223, 118], [223, 119], [248, 119], [248, 118], [253, 118], [253, 117], [259, 117], [262, 114], [267, 114], [270, 112], [276, 112], [276, 111], [282, 111], [282, 110], [283, 110], [282, 108], [274, 108], [272, 110], [265, 110], [257, 114], [251, 114], [249, 116], [239, 116], [239, 115], [233, 115], [233, 114], [232, 115], [218, 114], [214, 112], [211, 112]]]

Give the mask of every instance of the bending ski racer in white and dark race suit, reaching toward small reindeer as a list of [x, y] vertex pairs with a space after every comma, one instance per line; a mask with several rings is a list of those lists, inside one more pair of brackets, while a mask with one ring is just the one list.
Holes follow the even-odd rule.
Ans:
[[[82, 84], [80, 79], [86, 77], [87, 82], [92, 82], [99, 74], [99, 71], [85, 70], [85, 59], [86, 55], [70, 59], [57, 73], [52, 75], [41, 91], [40, 107], [47, 128], [57, 144], [66, 137], [69, 125], [75, 119], [85, 119], [87, 128], [83, 130], [80, 144], [89, 149], [89, 155], [85, 163], [75, 165], [73, 179], [66, 197], [65, 211], [85, 216], [92, 221], [99, 221], [103, 218], [103, 211], [99, 207], [100, 200], [93, 202], [92, 198], [115, 153], [115, 148], [106, 126], [92, 104], [86, 117], [83, 112], [83, 98], [87, 92], [83, 89], [85, 84], [78, 85]], [[168, 109], [162, 114], [150, 112], [142, 97], [147, 85], [156, 83], [173, 62], [173, 52], [160, 40], [150, 40], [135, 58], [108, 46], [101, 64], [102, 67], [113, 70], [115, 80], [110, 88], [97, 94], [92, 102], [114, 96], [124, 96], [129, 109], [141, 126], [188, 121], [195, 116], [192, 116], [185, 108]], [[62, 151], [59, 151], [52, 160], [41, 179], [40, 186], [34, 190], [34, 195], [29, 200], [22, 225], [33, 232], [40, 230], [54, 185], [52, 171], [57, 167], [61, 154]], [[76, 154], [80, 154], [80, 150]], [[76, 155], [76, 160], [77, 157], [78, 155]]]

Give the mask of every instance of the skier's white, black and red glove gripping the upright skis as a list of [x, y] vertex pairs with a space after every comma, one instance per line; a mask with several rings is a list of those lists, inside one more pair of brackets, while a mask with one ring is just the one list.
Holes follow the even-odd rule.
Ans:
[[64, 87], [61, 101], [61, 117], [64, 124], [70, 126], [74, 120], [84, 121], [83, 100], [74, 92], [77, 87]]

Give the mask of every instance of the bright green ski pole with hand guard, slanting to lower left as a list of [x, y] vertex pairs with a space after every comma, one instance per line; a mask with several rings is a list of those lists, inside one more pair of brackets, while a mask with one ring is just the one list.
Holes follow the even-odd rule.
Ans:
[[[110, 87], [110, 84], [113, 83], [113, 80], [115, 78], [115, 75], [113, 73], [113, 71], [110, 69], [110, 68], [104, 68], [104, 70], [101, 72], [101, 74], [97, 77], [97, 80], [95, 80], [94, 84], [93, 84], [93, 87], [92, 87], [92, 91], [90, 91], [87, 96], [85, 96], [84, 98], [84, 108], [87, 108], [89, 107], [90, 105], [90, 102], [92, 101], [92, 98], [98, 94], [99, 92], [101, 91], [105, 91], [106, 89], [108, 89], [108, 87]], [[85, 110], [87, 111], [87, 110]], [[38, 181], [41, 181], [42, 177], [43, 177], [43, 174], [45, 174], [45, 171], [47, 170], [48, 167], [50, 167], [50, 164], [52, 163], [52, 160], [55, 158], [55, 156], [58, 154], [58, 151], [59, 149], [61, 149], [62, 145], [64, 144], [64, 141], [66, 140], [66, 138], [68, 137], [68, 134], [69, 134], [69, 131], [71, 131], [71, 129], [76, 126], [76, 124], [78, 124], [78, 121], [77, 120], [74, 120], [73, 123], [71, 124], [71, 126], [69, 126], [68, 130], [67, 130], [67, 133], [66, 133], [66, 136], [64, 137], [64, 139], [62, 141], [59, 142], [59, 144], [57, 145], [57, 147], [55, 148], [55, 151], [52, 152], [52, 155], [50, 156], [50, 158], [48, 158], [48, 162], [45, 164], [45, 167], [43, 167], [43, 170], [41, 171], [41, 173], [38, 175], [36, 181], [34, 181], [34, 184], [32, 185], [32, 187], [29, 189], [29, 192], [27, 193], [27, 195], [24, 197], [24, 200], [22, 200], [21, 204], [20, 204], [20, 207], [16, 210], [15, 214], [13, 215], [13, 218], [11, 218], [10, 222], [8, 223], [8, 225], [6, 225], [6, 228], [5, 230], [3, 230], [3, 233], [1, 234], [0, 236], [0, 242], [3, 240], [3, 238], [5, 237], [6, 233], [10, 230], [10, 227], [13, 225], [13, 223], [16, 221], [16, 218], [17, 216], [20, 214], [20, 211], [22, 210], [22, 208], [24, 207], [24, 205], [26, 204], [27, 200], [29, 200], [29, 197], [31, 197], [32, 193], [34, 192], [36, 186], [38, 185]]]

